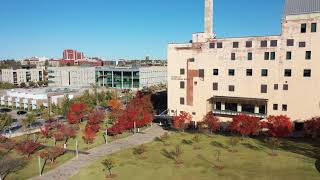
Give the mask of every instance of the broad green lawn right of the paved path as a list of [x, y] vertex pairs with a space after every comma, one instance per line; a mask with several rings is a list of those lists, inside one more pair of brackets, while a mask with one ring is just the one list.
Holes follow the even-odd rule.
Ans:
[[[201, 135], [200, 147], [182, 143], [191, 140], [192, 134], [170, 135], [169, 144], [154, 141], [146, 144], [147, 159], [134, 156], [132, 149], [111, 155], [116, 163], [113, 172], [116, 180], [212, 180], [212, 179], [259, 179], [259, 180], [313, 180], [320, 179], [315, 167], [315, 156], [320, 154], [320, 143], [283, 140], [278, 156], [270, 156], [270, 149], [262, 140], [244, 138], [236, 147], [238, 152], [228, 151], [230, 137]], [[182, 165], [162, 155], [162, 149], [173, 150], [176, 144], [183, 148]], [[221, 161], [216, 161], [216, 151], [221, 151]], [[104, 158], [103, 158], [104, 159]], [[71, 180], [105, 179], [99, 160], [83, 168]], [[224, 166], [219, 170], [214, 165]]]

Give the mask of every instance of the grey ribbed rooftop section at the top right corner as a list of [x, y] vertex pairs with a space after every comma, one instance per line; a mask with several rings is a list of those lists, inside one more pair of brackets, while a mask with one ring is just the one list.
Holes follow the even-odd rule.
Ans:
[[320, 0], [285, 0], [285, 15], [320, 12]]

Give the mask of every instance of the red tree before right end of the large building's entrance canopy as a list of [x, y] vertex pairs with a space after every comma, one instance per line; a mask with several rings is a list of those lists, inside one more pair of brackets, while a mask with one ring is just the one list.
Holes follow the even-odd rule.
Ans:
[[258, 117], [240, 114], [232, 118], [228, 129], [243, 136], [257, 135], [260, 131], [260, 119]]

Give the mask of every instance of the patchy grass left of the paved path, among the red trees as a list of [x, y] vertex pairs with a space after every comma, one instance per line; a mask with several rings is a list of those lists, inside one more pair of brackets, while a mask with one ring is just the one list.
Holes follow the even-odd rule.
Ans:
[[[99, 145], [105, 143], [105, 140], [104, 140], [104, 137], [103, 137], [104, 131], [101, 130], [97, 134], [97, 137], [96, 137], [96, 139], [94, 140], [94, 142], [92, 144], [85, 144], [83, 139], [82, 139], [82, 134], [83, 134], [82, 130], [84, 128], [85, 128], [85, 123], [80, 125], [80, 130], [77, 133], [77, 137], [74, 138], [74, 139], [69, 139], [68, 140], [68, 143], [67, 143], [67, 148], [68, 149], [74, 149], [75, 150], [76, 140], [78, 140], [78, 147], [82, 151], [94, 148], [96, 146], [99, 146]], [[105, 128], [103, 128], [103, 129], [105, 129]], [[145, 129], [145, 128], [142, 128], [142, 129]], [[111, 141], [114, 141], [114, 140], [116, 140], [118, 138], [124, 138], [124, 137], [130, 136], [130, 135], [132, 135], [131, 132], [125, 132], [125, 133], [119, 135], [117, 138], [113, 138], [113, 137], [108, 136], [108, 141], [111, 142]], [[37, 134], [36, 137], [38, 138], [38, 140], [37, 140], [38, 142], [42, 142], [43, 144], [51, 145], [51, 146], [54, 145], [53, 139], [42, 138], [41, 135], [39, 135], [39, 134]], [[26, 138], [26, 136], [21, 136], [21, 137], [14, 138], [14, 139], [17, 142], [19, 142], [19, 141], [22, 141], [25, 138]], [[29, 138], [33, 139], [33, 135], [29, 135]], [[64, 142], [57, 142], [57, 146], [63, 147], [63, 143]], [[12, 150], [9, 153], [9, 155], [11, 157], [14, 157], [14, 158], [23, 157], [22, 155], [17, 153], [15, 150]], [[44, 168], [44, 172], [47, 172], [47, 171], [49, 171], [51, 169], [54, 169], [55, 167], [65, 163], [66, 161], [72, 159], [75, 156], [76, 155], [74, 153], [65, 153], [64, 155], [62, 155], [59, 158], [57, 158], [55, 163], [53, 163], [53, 164], [46, 163], [45, 168]], [[23, 169], [15, 172], [15, 173], [9, 174], [6, 179], [9, 179], [9, 180], [11, 180], [11, 179], [21, 180], [21, 179], [27, 179], [27, 178], [30, 178], [30, 177], [33, 177], [33, 176], [37, 176], [39, 174], [39, 170], [38, 170], [38, 166], [39, 165], [38, 165], [38, 156], [37, 156], [37, 154], [31, 155], [31, 157], [29, 159], [26, 159], [26, 160], [27, 160], [28, 163]]]

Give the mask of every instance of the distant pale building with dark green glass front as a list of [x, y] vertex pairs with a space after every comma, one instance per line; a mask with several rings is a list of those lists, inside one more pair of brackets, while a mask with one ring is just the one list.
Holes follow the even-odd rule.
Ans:
[[96, 67], [96, 79], [100, 87], [142, 89], [166, 84], [167, 67]]

